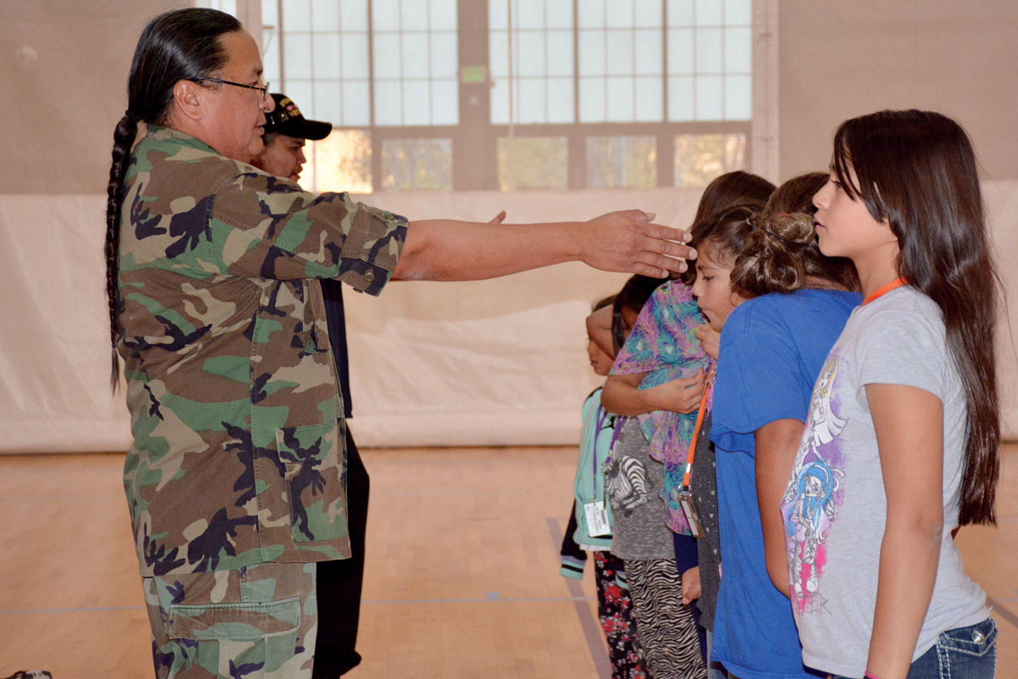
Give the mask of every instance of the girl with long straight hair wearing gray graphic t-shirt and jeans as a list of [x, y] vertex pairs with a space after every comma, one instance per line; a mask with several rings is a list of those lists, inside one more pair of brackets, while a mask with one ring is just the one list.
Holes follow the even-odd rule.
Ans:
[[1000, 472], [999, 279], [972, 145], [939, 113], [853, 118], [813, 203], [819, 249], [855, 264], [866, 299], [786, 479], [803, 657], [836, 676], [989, 679], [997, 628], [952, 540], [995, 522]]

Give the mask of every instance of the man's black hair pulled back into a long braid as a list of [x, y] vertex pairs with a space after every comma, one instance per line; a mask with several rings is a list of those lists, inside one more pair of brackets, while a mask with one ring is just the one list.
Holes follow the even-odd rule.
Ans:
[[110, 385], [120, 379], [117, 358], [119, 323], [120, 205], [124, 177], [130, 164], [131, 145], [139, 122], [164, 125], [173, 104], [178, 80], [210, 75], [226, 64], [229, 55], [220, 37], [240, 31], [236, 17], [215, 9], [178, 9], [160, 14], [142, 32], [127, 78], [127, 111], [113, 131], [113, 163], [106, 201], [106, 297], [110, 307], [110, 342], [113, 345]]

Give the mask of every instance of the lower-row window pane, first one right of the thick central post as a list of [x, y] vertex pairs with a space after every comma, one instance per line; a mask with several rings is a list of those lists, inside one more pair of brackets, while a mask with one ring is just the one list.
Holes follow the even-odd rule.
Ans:
[[499, 188], [569, 187], [569, 145], [564, 136], [501, 137]]

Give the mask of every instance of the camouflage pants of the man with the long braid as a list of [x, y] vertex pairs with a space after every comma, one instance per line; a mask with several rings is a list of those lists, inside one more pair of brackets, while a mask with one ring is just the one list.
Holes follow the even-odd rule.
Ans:
[[310, 679], [316, 564], [143, 578], [156, 679]]

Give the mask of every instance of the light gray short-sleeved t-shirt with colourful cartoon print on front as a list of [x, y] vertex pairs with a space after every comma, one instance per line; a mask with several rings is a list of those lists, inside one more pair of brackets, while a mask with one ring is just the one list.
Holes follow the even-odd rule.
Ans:
[[[940, 308], [900, 287], [856, 308], [816, 380], [782, 500], [792, 608], [807, 667], [861, 676], [873, 626], [887, 497], [869, 384], [906, 385], [944, 404], [944, 536], [913, 660], [948, 629], [988, 616], [951, 537], [958, 525], [966, 403]], [[893, 546], [890, 546], [893, 549]]]

